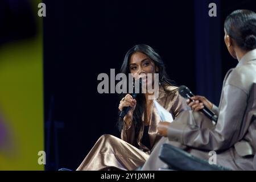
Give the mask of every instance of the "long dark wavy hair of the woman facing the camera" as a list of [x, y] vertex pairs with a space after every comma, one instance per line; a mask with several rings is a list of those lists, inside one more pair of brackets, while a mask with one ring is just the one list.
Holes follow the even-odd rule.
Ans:
[[[159, 56], [158, 53], [156, 53], [156, 51], [153, 48], [151, 48], [150, 46], [147, 46], [146, 44], [138, 44], [138, 45], [134, 46], [133, 48], [129, 49], [129, 51], [127, 51], [127, 53], [125, 55], [125, 59], [123, 60], [121, 70], [120, 70], [121, 73], [125, 73], [125, 75], [128, 76], [128, 74], [130, 73], [130, 69], [129, 69], [130, 57], [135, 52], [144, 53], [145, 55], [150, 57], [150, 59], [152, 61], [154, 61], [155, 66], [159, 68], [159, 72], [157, 72], [157, 73], [159, 74], [159, 83], [163, 86], [163, 88], [165, 86], [176, 85], [175, 81], [170, 80], [170, 78], [168, 77], [168, 75], [166, 73], [166, 67], [164, 66], [162, 58]], [[126, 94], [120, 94], [120, 99], [125, 96], [126, 96]], [[137, 101], [137, 105], [133, 112], [133, 123], [135, 126], [135, 135], [137, 137], [139, 130], [141, 129], [142, 114], [143, 114], [144, 107], [145, 107], [144, 94], [142, 94], [142, 93], [138, 94], [136, 97], [136, 101]], [[120, 114], [120, 111], [119, 111], [118, 115], [119, 114]], [[119, 121], [118, 121], [119, 131], [121, 131], [122, 128], [123, 128], [123, 119], [119, 118]]]

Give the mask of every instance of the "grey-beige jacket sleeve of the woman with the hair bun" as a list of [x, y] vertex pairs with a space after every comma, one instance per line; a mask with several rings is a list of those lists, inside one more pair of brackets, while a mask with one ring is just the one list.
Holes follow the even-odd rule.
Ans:
[[[228, 80], [234, 79], [240, 78], [238, 74], [232, 72]], [[248, 96], [244, 90], [230, 84], [228, 80], [222, 88], [220, 112], [215, 126], [209, 119], [203, 119], [201, 122], [196, 120], [194, 114], [197, 112], [191, 111], [189, 117], [187, 112], [183, 112], [168, 128], [168, 138], [205, 150], [225, 150], [238, 142], [239, 136], [247, 131], [246, 123], [242, 121]], [[202, 122], [209, 125], [204, 127]]]

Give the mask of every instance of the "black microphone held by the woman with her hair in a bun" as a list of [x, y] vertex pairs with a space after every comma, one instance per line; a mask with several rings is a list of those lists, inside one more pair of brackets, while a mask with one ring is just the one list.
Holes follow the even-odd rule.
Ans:
[[[187, 88], [187, 86], [181, 85], [179, 87], [179, 93], [182, 97], [187, 98], [191, 101], [194, 101], [191, 99], [191, 97], [194, 97], [195, 95], [189, 90], [189, 88]], [[214, 114], [213, 111], [210, 110], [207, 106], [204, 105], [204, 109], [201, 109], [200, 111], [204, 113], [212, 121], [217, 122], [217, 119], [218, 119], [217, 115]]]

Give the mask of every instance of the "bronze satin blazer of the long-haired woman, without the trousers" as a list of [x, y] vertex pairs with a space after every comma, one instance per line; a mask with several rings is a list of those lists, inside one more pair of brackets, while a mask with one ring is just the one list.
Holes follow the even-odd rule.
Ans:
[[[163, 106], [164, 109], [170, 111], [173, 118], [176, 118], [181, 111], [188, 109], [185, 99], [180, 96], [178, 88], [176, 86], [166, 86], [165, 88], [163, 88], [163, 86], [159, 86], [159, 96], [156, 101], [161, 106]], [[144, 146], [144, 144], [141, 142], [144, 131], [144, 112], [142, 114], [142, 126], [139, 130], [139, 134], [137, 137], [135, 136], [134, 122], [131, 122], [130, 127], [127, 129], [125, 128], [125, 124], [123, 124], [123, 129], [121, 131], [121, 139], [147, 152], [147, 154], [150, 154], [152, 148], [154, 148], [155, 144], [161, 138], [160, 135], [158, 135], [158, 131], [156, 128], [161, 120], [158, 111], [155, 108], [155, 105], [152, 106], [150, 118], [150, 125], [148, 128], [150, 148]]]

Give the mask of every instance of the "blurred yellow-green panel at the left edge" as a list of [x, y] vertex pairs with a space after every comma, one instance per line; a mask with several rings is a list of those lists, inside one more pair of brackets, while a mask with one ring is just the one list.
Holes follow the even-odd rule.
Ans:
[[43, 33], [38, 3], [31, 1], [38, 34], [0, 47], [0, 170], [44, 170]]

